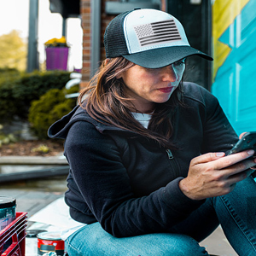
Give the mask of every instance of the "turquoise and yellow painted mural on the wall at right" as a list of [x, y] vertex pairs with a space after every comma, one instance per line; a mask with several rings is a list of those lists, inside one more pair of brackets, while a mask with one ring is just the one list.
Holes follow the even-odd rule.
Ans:
[[239, 134], [256, 131], [256, 0], [212, 4], [212, 94]]

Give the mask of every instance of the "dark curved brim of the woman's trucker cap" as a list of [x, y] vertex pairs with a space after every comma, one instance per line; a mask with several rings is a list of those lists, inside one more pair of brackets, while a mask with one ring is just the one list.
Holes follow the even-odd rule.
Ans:
[[142, 67], [159, 68], [171, 65], [172, 63], [191, 55], [199, 55], [208, 61], [213, 60], [211, 56], [190, 46], [172, 46], [158, 49], [149, 49], [131, 55], [123, 55], [123, 57], [126, 60]]

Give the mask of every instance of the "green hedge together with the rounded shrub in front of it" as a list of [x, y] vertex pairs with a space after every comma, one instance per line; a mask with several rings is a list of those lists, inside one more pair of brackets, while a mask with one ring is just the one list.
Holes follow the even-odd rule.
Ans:
[[47, 139], [49, 125], [76, 106], [76, 98], [65, 96], [79, 92], [79, 84], [67, 90], [68, 80], [67, 71], [25, 73], [0, 68], [0, 125], [28, 122], [36, 137]]

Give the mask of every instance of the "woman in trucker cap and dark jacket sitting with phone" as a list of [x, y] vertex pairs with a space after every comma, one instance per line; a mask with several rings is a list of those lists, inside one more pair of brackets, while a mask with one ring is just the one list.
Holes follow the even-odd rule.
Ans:
[[255, 199], [254, 152], [224, 157], [235, 131], [214, 96], [182, 82], [189, 55], [212, 58], [154, 9], [114, 18], [104, 44], [80, 106], [49, 128], [66, 139], [70, 214], [87, 224], [67, 253], [208, 255], [198, 242], [220, 223], [239, 255], [256, 255], [255, 206], [241, 203]]

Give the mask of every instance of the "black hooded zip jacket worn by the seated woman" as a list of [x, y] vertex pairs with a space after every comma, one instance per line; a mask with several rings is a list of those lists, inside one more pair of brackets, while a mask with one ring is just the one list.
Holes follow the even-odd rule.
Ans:
[[102, 125], [79, 107], [51, 125], [49, 137], [66, 140], [65, 200], [72, 218], [99, 221], [113, 236], [137, 236], [167, 232], [205, 202], [183, 195], [178, 183], [190, 160], [225, 152], [237, 136], [209, 91], [193, 83], [183, 83], [183, 90], [187, 107], [173, 116], [172, 142], [178, 150]]

